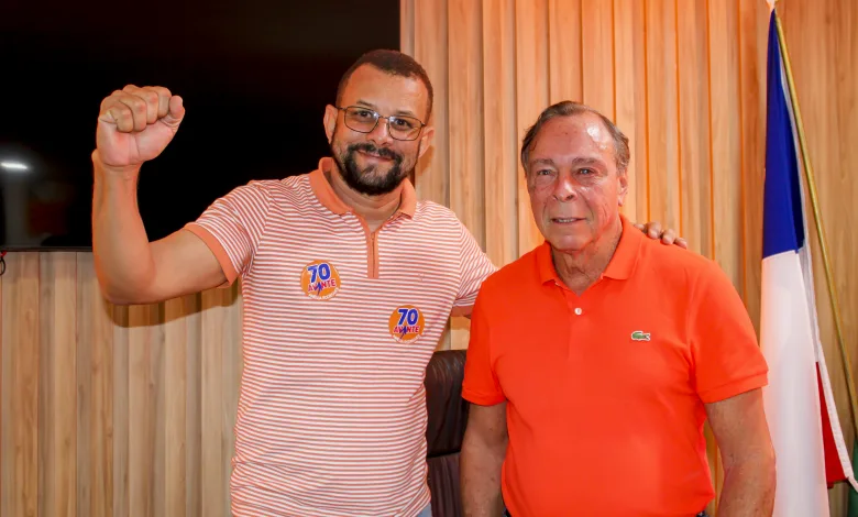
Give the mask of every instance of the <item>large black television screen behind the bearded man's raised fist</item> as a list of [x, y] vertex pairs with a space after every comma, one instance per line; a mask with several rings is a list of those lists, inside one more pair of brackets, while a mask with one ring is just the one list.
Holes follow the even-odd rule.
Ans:
[[345, 69], [399, 48], [399, 0], [73, 2], [0, 7], [0, 250], [89, 249], [96, 121], [125, 85], [160, 85], [187, 113], [143, 166], [150, 240], [251, 179], [304, 174]]

